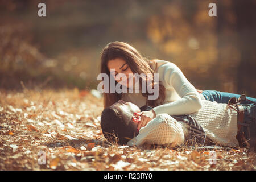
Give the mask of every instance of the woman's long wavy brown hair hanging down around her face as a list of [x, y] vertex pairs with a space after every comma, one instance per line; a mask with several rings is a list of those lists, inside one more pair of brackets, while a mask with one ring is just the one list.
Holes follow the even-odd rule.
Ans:
[[[152, 64], [157, 65], [155, 60], [148, 60], [146, 57], [142, 57], [141, 53], [139, 53], [133, 46], [130, 46], [125, 42], [111, 42], [108, 43], [101, 53], [101, 73], [106, 73], [110, 79], [110, 71], [108, 69], [108, 61], [116, 58], [121, 58], [126, 61], [129, 65], [131, 71], [133, 73], [151, 73], [152, 78], [154, 80], [155, 71], [151, 68]], [[155, 67], [156, 68], [156, 67]], [[104, 93], [104, 108], [109, 107], [110, 105], [117, 102], [122, 97], [122, 93], [110, 93], [110, 80], [109, 82], [109, 93]], [[115, 81], [115, 85], [117, 81]], [[154, 83], [152, 84], [152, 88], [154, 88]], [[156, 100], [148, 100], [148, 92], [142, 93], [144, 97], [146, 97], [146, 104], [155, 107], [157, 106], [157, 102], [159, 104], [163, 104], [165, 94], [164, 94], [164, 86], [159, 84], [159, 97]]]

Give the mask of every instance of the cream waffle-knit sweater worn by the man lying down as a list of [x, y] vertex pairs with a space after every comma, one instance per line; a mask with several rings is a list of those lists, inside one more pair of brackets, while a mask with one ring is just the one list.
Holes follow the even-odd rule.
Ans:
[[[230, 109], [227, 104], [207, 100], [203, 100], [202, 105], [199, 111], [190, 115], [200, 123], [207, 137], [217, 144], [238, 146], [237, 111]], [[184, 134], [187, 132], [185, 130], [184, 125], [170, 115], [158, 114], [127, 144], [129, 146], [139, 146], [144, 143], [181, 145], [185, 143]]]

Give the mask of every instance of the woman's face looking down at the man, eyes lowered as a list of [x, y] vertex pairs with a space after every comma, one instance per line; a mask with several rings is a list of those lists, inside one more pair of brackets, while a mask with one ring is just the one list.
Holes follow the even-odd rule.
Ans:
[[[126, 86], [127, 88], [134, 85], [134, 79], [129, 78], [129, 73], [131, 77], [133, 71], [131, 71], [131, 68], [129, 67], [125, 60], [123, 60], [122, 58], [112, 59], [108, 61], [107, 66], [110, 71], [110, 74], [115, 78], [115, 81], [120, 82], [120, 84]], [[110, 69], [114, 69], [114, 71], [111, 71]], [[125, 74], [126, 79], [122, 77], [120, 79], [116, 78], [115, 76], [117, 76], [118, 73]]]

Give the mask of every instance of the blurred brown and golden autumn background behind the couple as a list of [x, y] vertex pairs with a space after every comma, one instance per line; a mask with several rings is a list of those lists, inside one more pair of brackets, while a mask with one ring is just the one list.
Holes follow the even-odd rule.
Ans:
[[[46, 17], [38, 3], [46, 3]], [[217, 17], [208, 5], [217, 5]], [[256, 97], [256, 1], [0, 0], [0, 88], [97, 89], [115, 40], [175, 63], [197, 89]]]

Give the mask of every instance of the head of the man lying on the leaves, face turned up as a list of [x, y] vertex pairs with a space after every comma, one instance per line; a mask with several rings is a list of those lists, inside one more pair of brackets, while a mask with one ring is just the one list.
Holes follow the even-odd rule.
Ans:
[[119, 100], [110, 107], [104, 109], [101, 114], [101, 129], [104, 137], [110, 142], [127, 144], [138, 135], [138, 122], [134, 121], [134, 113], [139, 113], [139, 107], [131, 102]]

